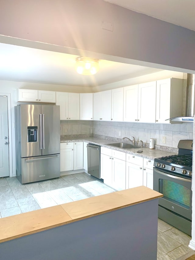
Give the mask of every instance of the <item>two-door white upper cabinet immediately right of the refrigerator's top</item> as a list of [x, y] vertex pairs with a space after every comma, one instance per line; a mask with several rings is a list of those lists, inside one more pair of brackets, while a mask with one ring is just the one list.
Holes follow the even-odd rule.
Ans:
[[79, 120], [79, 93], [56, 92], [56, 105], [60, 106], [60, 120]]

